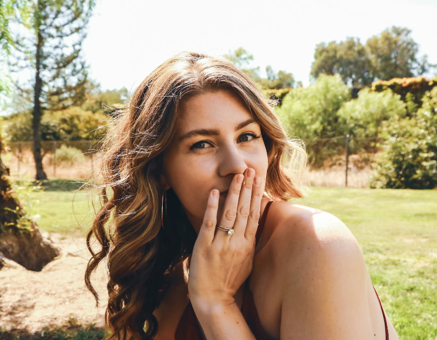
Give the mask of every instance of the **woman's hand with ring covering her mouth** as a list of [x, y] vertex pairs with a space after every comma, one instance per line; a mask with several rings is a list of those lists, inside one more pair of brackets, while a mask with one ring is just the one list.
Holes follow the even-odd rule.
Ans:
[[252, 271], [255, 234], [258, 228], [262, 179], [247, 169], [232, 180], [217, 229], [219, 192], [211, 191], [198, 238], [194, 244], [188, 276], [188, 292], [193, 307], [226, 306]]

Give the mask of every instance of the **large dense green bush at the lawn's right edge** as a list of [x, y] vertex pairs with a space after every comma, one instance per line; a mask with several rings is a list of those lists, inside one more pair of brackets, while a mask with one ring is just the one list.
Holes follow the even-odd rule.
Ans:
[[437, 187], [436, 101], [437, 87], [424, 96], [422, 108], [414, 117], [387, 121], [387, 141], [376, 160], [370, 187]]

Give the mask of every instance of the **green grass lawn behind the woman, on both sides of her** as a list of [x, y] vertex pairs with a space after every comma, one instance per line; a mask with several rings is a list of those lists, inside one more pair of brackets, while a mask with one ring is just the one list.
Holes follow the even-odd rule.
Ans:
[[[90, 191], [75, 191], [78, 184], [65, 180], [42, 186], [18, 190], [28, 214], [40, 215], [42, 230], [84, 235], [92, 219]], [[437, 190], [314, 187], [295, 202], [348, 225], [400, 339], [437, 338]]]

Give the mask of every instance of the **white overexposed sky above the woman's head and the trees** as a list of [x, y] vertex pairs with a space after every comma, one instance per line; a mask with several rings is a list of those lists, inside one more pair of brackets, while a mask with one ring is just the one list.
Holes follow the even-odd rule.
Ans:
[[97, 0], [84, 41], [102, 89], [129, 90], [180, 51], [222, 55], [242, 46], [253, 66], [271, 65], [309, 84], [316, 44], [407, 27], [437, 64], [437, 0]]

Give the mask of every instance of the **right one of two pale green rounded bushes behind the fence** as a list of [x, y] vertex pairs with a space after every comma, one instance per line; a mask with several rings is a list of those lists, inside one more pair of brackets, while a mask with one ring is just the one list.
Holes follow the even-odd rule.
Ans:
[[391, 90], [376, 93], [366, 88], [338, 110], [345, 127], [343, 134], [355, 137], [378, 137], [381, 124], [393, 116], [405, 117], [405, 104]]

